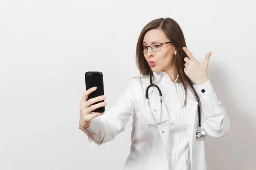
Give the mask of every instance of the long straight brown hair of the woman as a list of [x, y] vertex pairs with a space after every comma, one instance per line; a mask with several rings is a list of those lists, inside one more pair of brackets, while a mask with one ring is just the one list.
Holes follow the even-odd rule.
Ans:
[[[175, 65], [179, 74], [179, 79], [182, 82], [182, 85], [185, 89], [186, 96], [187, 96], [186, 88], [188, 87], [190, 90], [192, 89], [191, 91], [194, 91], [194, 95], [198, 99], [198, 104], [200, 105], [200, 99], [198, 97], [198, 94], [195, 91], [195, 88], [193, 87], [193, 83], [183, 71], [185, 68], [184, 58], [188, 57], [187, 54], [182, 49], [183, 47], [186, 47], [186, 42], [185, 42], [185, 38], [182, 30], [175, 20], [171, 18], [165, 18], [165, 19], [159, 18], [151, 21], [142, 29], [140, 33], [140, 37], [137, 42], [137, 48], [136, 48], [136, 64], [140, 71], [140, 74], [143, 76], [149, 76], [152, 73], [152, 70], [149, 67], [148, 62], [146, 61], [144, 54], [141, 52], [143, 51], [144, 36], [148, 31], [152, 29], [162, 30], [166, 35], [166, 37], [170, 41], [172, 41], [172, 45], [176, 47], [177, 54], [175, 56]], [[154, 77], [153, 74], [152, 76]], [[186, 99], [185, 99], [184, 106], [186, 106]]]

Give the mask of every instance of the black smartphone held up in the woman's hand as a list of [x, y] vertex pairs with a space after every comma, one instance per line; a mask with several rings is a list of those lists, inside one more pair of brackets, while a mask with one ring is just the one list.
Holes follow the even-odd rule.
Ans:
[[[100, 71], [87, 71], [85, 73], [85, 86], [86, 90], [92, 87], [97, 87], [96, 91], [93, 91], [91, 94], [89, 94], [88, 99], [95, 98], [97, 96], [104, 95], [104, 86], [103, 86], [103, 74]], [[104, 102], [104, 100], [93, 103], [93, 105], [96, 105], [97, 103]], [[99, 112], [103, 113], [105, 112], [105, 107], [97, 108], [92, 112]]]

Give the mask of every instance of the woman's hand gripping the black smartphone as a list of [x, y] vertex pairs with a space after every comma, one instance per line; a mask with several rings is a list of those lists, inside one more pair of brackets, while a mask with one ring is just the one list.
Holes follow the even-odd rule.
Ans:
[[[96, 91], [96, 87], [93, 88], [89, 88], [87, 91], [84, 92], [81, 100], [80, 100], [80, 119], [79, 119], [79, 123], [81, 128], [85, 129], [88, 128], [90, 126], [90, 122], [93, 118], [100, 116], [103, 113], [98, 113], [98, 112], [92, 112], [97, 108], [101, 108], [105, 105], [107, 105], [107, 102], [100, 102], [103, 101], [106, 97], [105, 96], [98, 96], [92, 99], [88, 99], [89, 94], [91, 94], [93, 91]], [[99, 102], [95, 105], [93, 105], [94, 103]]]

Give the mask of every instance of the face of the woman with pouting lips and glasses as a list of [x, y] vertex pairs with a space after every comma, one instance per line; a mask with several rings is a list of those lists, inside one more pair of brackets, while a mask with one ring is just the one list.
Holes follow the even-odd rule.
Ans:
[[[143, 45], [149, 46], [154, 42], [169, 42], [166, 35], [160, 29], [152, 29], [148, 31], [143, 39]], [[152, 71], [167, 71], [175, 65], [175, 47], [169, 43], [162, 45], [160, 51], [154, 52], [148, 47], [148, 51], [144, 54], [148, 65]], [[153, 62], [153, 63], [151, 63]]]

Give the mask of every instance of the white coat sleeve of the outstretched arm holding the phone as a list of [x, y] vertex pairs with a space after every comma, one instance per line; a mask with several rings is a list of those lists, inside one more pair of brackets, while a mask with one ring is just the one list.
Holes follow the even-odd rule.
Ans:
[[87, 135], [89, 143], [93, 147], [111, 141], [125, 130], [128, 120], [139, 108], [140, 91], [138, 85], [136, 79], [131, 79], [114, 107], [103, 115], [92, 119], [88, 128], [82, 129], [79, 125], [79, 129]]

